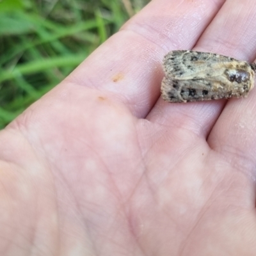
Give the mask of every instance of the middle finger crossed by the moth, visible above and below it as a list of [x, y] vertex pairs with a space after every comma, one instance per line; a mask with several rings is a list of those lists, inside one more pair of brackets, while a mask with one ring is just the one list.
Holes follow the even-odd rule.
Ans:
[[[255, 12], [255, 1], [253, 0], [247, 0], [243, 4], [239, 0], [226, 1], [200, 36], [193, 50], [216, 52], [240, 60], [251, 61], [252, 52], [256, 51]], [[250, 42], [246, 51], [244, 51], [244, 42]], [[237, 100], [237, 104], [242, 101], [244, 99]], [[152, 110], [148, 119], [164, 125], [179, 126], [207, 138], [226, 102], [226, 100], [216, 100], [170, 104], [159, 99], [156, 109]]]

